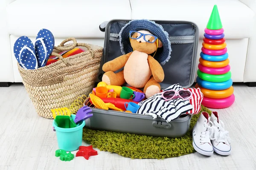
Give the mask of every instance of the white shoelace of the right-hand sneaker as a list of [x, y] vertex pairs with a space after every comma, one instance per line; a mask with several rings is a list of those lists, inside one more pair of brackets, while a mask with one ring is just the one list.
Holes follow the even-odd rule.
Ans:
[[231, 142], [229, 132], [224, 129], [224, 123], [221, 120], [219, 120], [219, 123], [216, 120], [214, 121], [210, 134], [211, 140], [215, 139], [216, 142]]

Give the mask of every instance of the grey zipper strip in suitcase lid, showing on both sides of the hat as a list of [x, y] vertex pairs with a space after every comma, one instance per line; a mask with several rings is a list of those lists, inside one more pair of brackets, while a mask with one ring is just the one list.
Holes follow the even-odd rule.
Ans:
[[[111, 33], [109, 40], [119, 41], [119, 34]], [[195, 36], [174, 36], [169, 37], [171, 44], [186, 44], [193, 43], [195, 41]]]

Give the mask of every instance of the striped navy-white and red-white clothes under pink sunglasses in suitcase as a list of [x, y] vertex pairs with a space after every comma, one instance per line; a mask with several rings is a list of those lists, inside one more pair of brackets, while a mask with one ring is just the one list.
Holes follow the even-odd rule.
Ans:
[[[169, 86], [163, 90], [165, 91], [179, 91], [182, 90], [180, 84], [175, 84]], [[166, 120], [166, 122], [171, 122], [177, 119], [182, 114], [196, 114], [200, 111], [200, 105], [202, 102], [203, 95], [200, 89], [187, 88], [192, 93], [191, 98], [188, 100], [183, 100], [182, 98], [170, 99], [166, 101], [163, 99], [161, 93], [154, 94], [150, 98], [140, 102], [140, 108], [138, 109], [138, 114], [147, 114], [151, 115], [153, 119], [156, 119], [157, 116]], [[198, 111], [199, 110], [199, 111]]]

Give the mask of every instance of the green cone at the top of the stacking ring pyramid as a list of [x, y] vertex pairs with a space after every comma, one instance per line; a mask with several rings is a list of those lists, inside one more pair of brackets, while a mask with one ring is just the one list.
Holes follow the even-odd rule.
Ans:
[[209, 18], [206, 28], [211, 29], [211, 30], [216, 30], [216, 29], [222, 28], [221, 18], [218, 13], [217, 5], [214, 5], [214, 7], [212, 9], [212, 14]]

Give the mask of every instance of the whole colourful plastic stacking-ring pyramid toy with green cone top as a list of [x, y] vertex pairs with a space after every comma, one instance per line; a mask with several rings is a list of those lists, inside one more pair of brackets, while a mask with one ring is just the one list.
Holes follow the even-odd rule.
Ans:
[[202, 105], [227, 108], [234, 103], [235, 96], [224, 29], [216, 5], [204, 32], [195, 87], [204, 94]]

